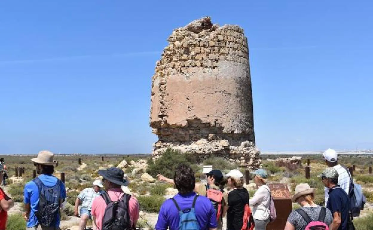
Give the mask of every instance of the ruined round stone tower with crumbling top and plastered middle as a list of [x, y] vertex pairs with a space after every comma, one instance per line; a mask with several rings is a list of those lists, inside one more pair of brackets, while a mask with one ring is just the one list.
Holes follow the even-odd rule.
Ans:
[[166, 148], [258, 167], [247, 38], [209, 17], [175, 29], [152, 79], [150, 126]]

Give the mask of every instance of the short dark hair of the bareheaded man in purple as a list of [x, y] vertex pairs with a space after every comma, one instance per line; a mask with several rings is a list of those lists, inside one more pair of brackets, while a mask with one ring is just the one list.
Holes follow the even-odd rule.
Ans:
[[192, 168], [187, 164], [179, 164], [173, 176], [173, 181], [180, 194], [193, 192], [195, 176]]

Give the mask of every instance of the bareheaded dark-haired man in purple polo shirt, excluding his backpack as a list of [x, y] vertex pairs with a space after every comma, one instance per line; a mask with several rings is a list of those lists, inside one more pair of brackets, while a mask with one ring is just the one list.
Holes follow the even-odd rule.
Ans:
[[[179, 193], [173, 198], [176, 200], [181, 210], [192, 207], [194, 197], [197, 195], [193, 190], [195, 187], [195, 176], [192, 168], [187, 164], [180, 164], [175, 171], [174, 181]], [[205, 196], [198, 196], [195, 204], [195, 215], [201, 230], [216, 230], [216, 214], [211, 201]], [[179, 212], [172, 199], [163, 202], [156, 230], [178, 230]]]

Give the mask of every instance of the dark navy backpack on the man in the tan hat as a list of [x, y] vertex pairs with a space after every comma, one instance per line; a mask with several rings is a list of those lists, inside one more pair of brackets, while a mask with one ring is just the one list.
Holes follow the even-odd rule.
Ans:
[[35, 212], [41, 227], [56, 226], [57, 217], [60, 212], [61, 184], [62, 181], [57, 179], [56, 185], [47, 187], [36, 177], [32, 180], [39, 189], [39, 206]]

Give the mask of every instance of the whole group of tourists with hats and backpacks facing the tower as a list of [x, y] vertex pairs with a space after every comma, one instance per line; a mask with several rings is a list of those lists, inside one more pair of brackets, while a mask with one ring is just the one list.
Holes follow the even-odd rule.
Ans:
[[[320, 180], [325, 185], [325, 206], [314, 203], [315, 188], [307, 183], [296, 186], [292, 202], [301, 207], [293, 210], [285, 230], [354, 230], [350, 213], [351, 175], [338, 164], [337, 153], [324, 152], [328, 166]], [[64, 183], [53, 176], [56, 161], [53, 153], [40, 151], [31, 159], [38, 177], [26, 183], [23, 202], [27, 230], [59, 230], [60, 208], [66, 199]], [[134, 230], [139, 218], [139, 203], [130, 195], [128, 177], [123, 170], [112, 167], [99, 170], [101, 180], [91, 188], [82, 190], [75, 201], [74, 214], [80, 216], [79, 230], [93, 220], [93, 230]], [[254, 172], [257, 190], [250, 199], [244, 188], [244, 176], [237, 169], [225, 176], [214, 169], [206, 173], [207, 183], [196, 183], [195, 174], [188, 164], [180, 164], [173, 179], [157, 175], [158, 180], [172, 183], [178, 193], [162, 204], [156, 230], [266, 230], [274, 221], [276, 211], [267, 185], [267, 172]], [[4, 170], [0, 171], [0, 181]], [[126, 191], [126, 192], [123, 192]], [[0, 188], [0, 230], [6, 229], [7, 211], [13, 207], [12, 199]], [[81, 207], [79, 210], [79, 206]], [[271, 207], [272, 206], [272, 207]], [[251, 207], [251, 208], [250, 208]], [[223, 227], [226, 217], [226, 227]]]

